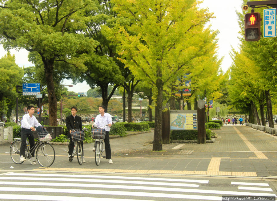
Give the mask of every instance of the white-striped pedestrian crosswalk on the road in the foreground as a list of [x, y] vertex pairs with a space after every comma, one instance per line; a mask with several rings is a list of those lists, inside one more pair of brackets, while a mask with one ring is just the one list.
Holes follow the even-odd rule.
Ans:
[[[227, 180], [228, 190], [209, 187], [208, 179], [47, 174], [0, 175], [0, 199], [18, 200], [222, 200], [224, 195], [274, 196], [268, 183]], [[213, 186], [213, 185], [211, 185]], [[220, 189], [220, 190], [219, 190]], [[226, 188], [224, 188], [226, 189]]]

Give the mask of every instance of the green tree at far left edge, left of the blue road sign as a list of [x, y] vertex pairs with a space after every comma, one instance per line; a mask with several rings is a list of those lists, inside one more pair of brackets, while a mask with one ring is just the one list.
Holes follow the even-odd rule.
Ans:
[[0, 74], [0, 119], [3, 121], [2, 117], [8, 112], [8, 106], [16, 103], [18, 94], [15, 86], [23, 77], [23, 69], [15, 64], [15, 56], [10, 55], [10, 52], [0, 59]]

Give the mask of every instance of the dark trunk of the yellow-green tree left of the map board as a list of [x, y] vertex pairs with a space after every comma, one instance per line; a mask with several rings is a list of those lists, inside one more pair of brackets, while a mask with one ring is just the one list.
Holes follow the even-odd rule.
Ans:
[[162, 140], [162, 111], [163, 111], [163, 80], [160, 78], [156, 81], [156, 87], [158, 89], [158, 94], [156, 97], [155, 106], [155, 129], [154, 129], [154, 141], [153, 141], [153, 151], [163, 150], [163, 140]]

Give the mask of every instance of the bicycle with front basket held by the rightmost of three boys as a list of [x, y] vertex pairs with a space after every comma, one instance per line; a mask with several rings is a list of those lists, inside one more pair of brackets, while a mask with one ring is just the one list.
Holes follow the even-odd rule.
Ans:
[[[106, 126], [108, 126], [108, 125], [105, 125], [104, 128]], [[104, 145], [103, 145], [103, 140], [105, 139], [105, 136], [106, 136], [106, 130], [104, 128], [91, 129], [92, 139], [95, 139], [95, 156], [94, 156], [94, 158], [95, 158], [95, 163], [97, 166], [100, 164], [101, 156], [103, 158], [106, 158], [106, 156], [103, 156], [103, 152], [105, 151]]]

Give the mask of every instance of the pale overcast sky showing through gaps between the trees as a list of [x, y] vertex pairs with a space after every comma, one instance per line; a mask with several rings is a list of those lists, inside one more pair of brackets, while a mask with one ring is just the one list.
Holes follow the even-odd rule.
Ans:
[[[229, 56], [229, 52], [231, 51], [231, 46], [236, 48], [239, 44], [238, 32], [239, 32], [239, 24], [237, 23], [235, 10], [241, 11], [241, 3], [242, 0], [203, 0], [202, 7], [208, 8], [209, 12], [214, 13], [216, 18], [211, 19], [211, 29], [219, 30], [218, 35], [218, 55], [219, 58], [224, 57], [221, 68], [223, 71], [227, 71], [227, 69], [232, 64], [232, 59]], [[235, 20], [234, 20], [235, 19]], [[33, 65], [28, 61], [28, 51], [20, 50], [15, 51], [11, 50], [11, 54], [15, 55], [15, 62], [20, 67], [28, 67]], [[7, 52], [0, 46], [0, 57], [4, 56]], [[70, 80], [63, 81], [64, 85], [71, 85]], [[74, 87], [70, 87], [69, 91], [74, 92], [87, 92], [90, 87], [86, 83], [81, 83], [74, 85]]]

